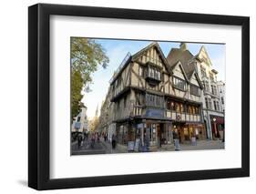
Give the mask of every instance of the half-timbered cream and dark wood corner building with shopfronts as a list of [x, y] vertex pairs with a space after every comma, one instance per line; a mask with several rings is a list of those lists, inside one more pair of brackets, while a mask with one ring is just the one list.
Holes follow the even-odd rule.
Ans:
[[195, 69], [169, 64], [157, 42], [126, 56], [109, 87], [118, 143], [139, 138], [155, 148], [171, 143], [174, 131], [181, 142], [205, 138], [202, 88]]

